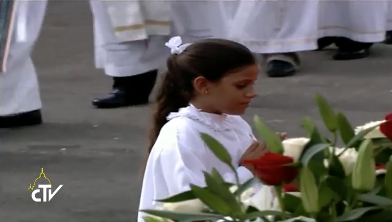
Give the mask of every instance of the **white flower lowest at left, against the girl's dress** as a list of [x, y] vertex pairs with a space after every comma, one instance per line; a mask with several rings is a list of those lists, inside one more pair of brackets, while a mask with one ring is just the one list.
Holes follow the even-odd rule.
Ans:
[[199, 199], [181, 201], [176, 203], [164, 203], [164, 205], [158, 207], [159, 210], [174, 211], [174, 212], [186, 212], [186, 213], [200, 213], [205, 209], [206, 206]]

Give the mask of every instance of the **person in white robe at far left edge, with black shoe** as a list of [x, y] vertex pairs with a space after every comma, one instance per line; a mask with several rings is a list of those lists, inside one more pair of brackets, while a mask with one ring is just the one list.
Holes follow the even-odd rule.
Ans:
[[40, 90], [31, 51], [40, 34], [46, 4], [46, 0], [17, 1], [16, 13], [27, 7], [23, 10], [28, 13], [27, 41], [18, 42], [16, 35], [12, 36], [7, 71], [0, 74], [0, 128], [42, 123]]

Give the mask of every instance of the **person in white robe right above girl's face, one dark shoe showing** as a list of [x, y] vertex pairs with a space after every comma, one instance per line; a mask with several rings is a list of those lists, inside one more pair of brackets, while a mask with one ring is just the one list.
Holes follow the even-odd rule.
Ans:
[[241, 0], [227, 25], [227, 38], [262, 54], [269, 76], [292, 75], [301, 63], [298, 52], [317, 49], [318, 4]]

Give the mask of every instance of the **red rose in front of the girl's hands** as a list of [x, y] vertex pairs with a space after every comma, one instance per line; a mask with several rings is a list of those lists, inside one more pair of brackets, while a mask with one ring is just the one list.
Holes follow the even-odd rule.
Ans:
[[268, 152], [258, 159], [244, 160], [245, 164], [252, 164], [257, 176], [269, 186], [279, 186], [290, 183], [298, 174], [298, 168], [287, 166], [294, 159], [278, 153]]

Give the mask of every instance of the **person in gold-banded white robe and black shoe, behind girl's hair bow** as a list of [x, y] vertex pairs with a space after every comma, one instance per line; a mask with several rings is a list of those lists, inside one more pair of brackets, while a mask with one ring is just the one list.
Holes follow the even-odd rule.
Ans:
[[187, 43], [211, 37], [207, 1], [91, 1], [96, 67], [113, 77], [112, 92], [93, 100], [98, 108], [148, 103], [170, 35]]

